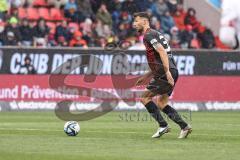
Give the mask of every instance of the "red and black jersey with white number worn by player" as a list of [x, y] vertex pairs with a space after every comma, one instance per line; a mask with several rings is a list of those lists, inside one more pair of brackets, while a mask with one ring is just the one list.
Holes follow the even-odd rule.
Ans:
[[146, 47], [146, 57], [148, 65], [154, 75], [163, 75], [165, 73], [163, 63], [159, 53], [154, 49], [156, 43], [160, 43], [168, 54], [169, 69], [177, 69], [176, 63], [173, 59], [171, 47], [168, 40], [160, 32], [148, 29], [143, 38], [144, 45]]

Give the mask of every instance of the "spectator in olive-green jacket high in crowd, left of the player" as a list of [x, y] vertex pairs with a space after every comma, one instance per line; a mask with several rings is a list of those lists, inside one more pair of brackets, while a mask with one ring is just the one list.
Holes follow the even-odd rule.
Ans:
[[96, 17], [102, 22], [103, 25], [108, 25], [109, 28], [112, 28], [112, 16], [108, 12], [105, 4], [101, 4]]

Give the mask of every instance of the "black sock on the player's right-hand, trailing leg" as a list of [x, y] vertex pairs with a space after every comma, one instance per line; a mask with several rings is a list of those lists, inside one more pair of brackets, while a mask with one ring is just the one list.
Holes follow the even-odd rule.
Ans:
[[187, 123], [181, 118], [181, 116], [177, 113], [177, 111], [171, 106], [167, 105], [162, 111], [166, 115], [168, 115], [168, 117], [171, 120], [177, 123], [181, 127], [181, 129], [184, 129], [185, 127], [187, 127]]

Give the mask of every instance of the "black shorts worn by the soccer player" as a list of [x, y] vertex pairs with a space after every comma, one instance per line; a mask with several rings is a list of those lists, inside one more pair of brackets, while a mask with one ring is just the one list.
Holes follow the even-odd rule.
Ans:
[[[178, 80], [178, 70], [170, 69], [172, 77], [174, 79], [174, 86]], [[171, 86], [168, 81], [166, 75], [162, 76], [154, 76], [149, 84], [147, 85], [147, 89], [155, 94], [163, 95], [168, 94], [171, 96], [174, 86]]]

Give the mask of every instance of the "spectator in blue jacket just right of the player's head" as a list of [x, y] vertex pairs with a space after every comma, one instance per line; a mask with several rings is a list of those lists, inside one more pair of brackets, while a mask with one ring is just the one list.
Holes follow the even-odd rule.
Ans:
[[161, 28], [164, 33], [170, 34], [170, 30], [175, 26], [175, 22], [170, 15], [169, 11], [166, 11], [161, 18]]

